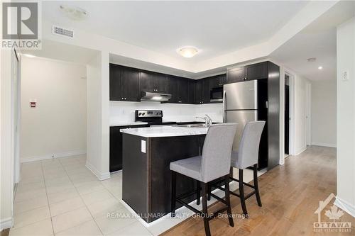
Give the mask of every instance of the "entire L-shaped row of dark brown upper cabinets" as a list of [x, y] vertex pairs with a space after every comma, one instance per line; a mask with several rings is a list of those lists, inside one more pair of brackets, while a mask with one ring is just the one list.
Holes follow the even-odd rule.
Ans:
[[140, 101], [141, 91], [150, 91], [171, 94], [167, 103], [210, 103], [211, 89], [251, 79], [267, 79], [268, 63], [236, 67], [228, 69], [226, 74], [197, 80], [110, 64], [110, 100]]

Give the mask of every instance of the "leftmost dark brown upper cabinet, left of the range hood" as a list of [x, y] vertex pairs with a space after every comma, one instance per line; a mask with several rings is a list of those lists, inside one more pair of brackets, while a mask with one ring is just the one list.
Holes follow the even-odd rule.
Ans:
[[140, 101], [137, 69], [110, 64], [109, 71], [111, 101]]

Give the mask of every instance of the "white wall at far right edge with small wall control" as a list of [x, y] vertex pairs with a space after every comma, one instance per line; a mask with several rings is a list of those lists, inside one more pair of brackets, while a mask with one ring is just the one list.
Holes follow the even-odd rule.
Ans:
[[[342, 73], [349, 80], [342, 81]], [[337, 28], [337, 201], [355, 217], [355, 18]]]

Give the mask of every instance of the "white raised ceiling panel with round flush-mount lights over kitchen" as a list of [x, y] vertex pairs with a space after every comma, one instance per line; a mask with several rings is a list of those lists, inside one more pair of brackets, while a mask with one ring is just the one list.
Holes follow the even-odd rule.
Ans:
[[[87, 10], [72, 21], [60, 4]], [[201, 51], [184, 59], [200, 62], [263, 43], [285, 26], [307, 1], [43, 1], [43, 19], [79, 28], [181, 59], [176, 49]]]

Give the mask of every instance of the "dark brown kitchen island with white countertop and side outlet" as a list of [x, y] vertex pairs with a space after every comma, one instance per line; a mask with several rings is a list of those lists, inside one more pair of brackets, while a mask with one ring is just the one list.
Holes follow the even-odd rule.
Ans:
[[[201, 154], [208, 128], [158, 126], [123, 129], [122, 200], [147, 223], [170, 213], [170, 162]], [[177, 176], [176, 193], [189, 195], [196, 181]], [[196, 199], [195, 194], [187, 202]], [[178, 205], [177, 207], [180, 207]]]

